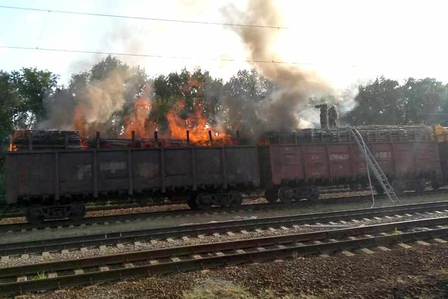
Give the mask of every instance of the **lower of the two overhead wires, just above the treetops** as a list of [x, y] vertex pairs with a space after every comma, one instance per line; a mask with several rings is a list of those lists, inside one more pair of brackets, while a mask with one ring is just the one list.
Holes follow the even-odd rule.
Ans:
[[[89, 51], [89, 50], [52, 49], [52, 48], [32, 48], [32, 47], [18, 47], [18, 46], [0, 46], [0, 49], [33, 50], [33, 51], [66, 52], [66, 53], [83, 53], [83, 54], [100, 54], [100, 55], [114, 55], [114, 56], [136, 56], [136, 57], [160, 58], [160, 59], [184, 59], [184, 60], [208, 60], [208, 61], [248, 62], [248, 63], [274, 63], [274, 64], [315, 65], [314, 63], [296, 62], [296, 61], [271, 61], [271, 60], [250, 60], [250, 59], [233, 59], [233, 58], [206, 58], [206, 57], [188, 57], [188, 56], [165, 56], [165, 55], [156, 55], [156, 54], [133, 54], [133, 53], [119, 53], [119, 52], [101, 52], [101, 51]], [[356, 66], [352, 65], [350, 67], [356, 67]]]

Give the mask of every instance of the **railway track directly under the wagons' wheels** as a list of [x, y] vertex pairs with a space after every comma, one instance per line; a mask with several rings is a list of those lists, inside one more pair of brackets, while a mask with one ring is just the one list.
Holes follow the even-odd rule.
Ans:
[[[438, 190], [438, 191], [425, 191], [423, 195], [439, 195], [448, 193], [448, 190]], [[422, 194], [416, 192], [408, 192], [401, 197], [413, 197], [421, 196]], [[256, 210], [287, 210], [291, 207], [297, 206], [310, 206], [315, 204], [334, 204], [334, 203], [353, 203], [353, 202], [370, 202], [372, 199], [371, 195], [362, 196], [349, 196], [349, 197], [334, 197], [325, 198], [318, 201], [298, 201], [292, 203], [282, 203], [277, 202], [272, 203], [255, 203], [255, 204], [243, 204], [239, 207], [212, 207], [209, 210], [192, 210], [192, 209], [179, 209], [179, 210], [164, 210], [164, 211], [149, 211], [149, 212], [139, 212], [139, 213], [128, 213], [123, 215], [109, 215], [100, 217], [88, 217], [81, 221], [73, 222], [70, 220], [49, 220], [45, 221], [39, 225], [30, 225], [28, 223], [16, 223], [16, 224], [6, 224], [0, 225], [0, 233], [12, 233], [15, 231], [31, 231], [39, 229], [51, 229], [51, 228], [64, 228], [64, 227], [84, 227], [87, 225], [99, 225], [99, 224], [110, 224], [116, 223], [120, 224], [122, 222], [140, 221], [143, 219], [151, 218], [163, 218], [163, 217], [181, 217], [189, 215], [209, 215], [210, 213], [223, 213], [223, 212], [233, 212], [233, 211], [256, 211]], [[376, 200], [387, 200], [386, 196], [383, 194], [376, 195]]]

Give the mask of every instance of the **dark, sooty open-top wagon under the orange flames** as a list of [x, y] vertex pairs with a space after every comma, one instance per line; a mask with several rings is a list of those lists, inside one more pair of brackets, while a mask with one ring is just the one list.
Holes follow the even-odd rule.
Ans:
[[82, 219], [85, 201], [189, 194], [192, 208], [240, 205], [259, 187], [255, 146], [17, 151], [6, 154], [6, 202], [26, 218]]

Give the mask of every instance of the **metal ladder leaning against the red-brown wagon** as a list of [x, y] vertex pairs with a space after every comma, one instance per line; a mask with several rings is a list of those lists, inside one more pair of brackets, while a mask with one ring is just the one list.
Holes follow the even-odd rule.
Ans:
[[[393, 191], [392, 186], [389, 184], [387, 177], [384, 175], [383, 170], [381, 170], [380, 165], [375, 160], [375, 157], [372, 155], [372, 152], [369, 150], [369, 147], [364, 143], [364, 139], [361, 133], [358, 130], [356, 130], [356, 127], [354, 126], [349, 126], [349, 129], [354, 137], [354, 140], [356, 141], [356, 144], [360, 148], [361, 152], [364, 154], [364, 157], [366, 158], [366, 163], [368, 163], [367, 172], [369, 175], [369, 181], [370, 181], [369, 168], [371, 168], [373, 170], [373, 174], [377, 178], [384, 192], [389, 197], [390, 201], [392, 203], [399, 203], [400, 199], [398, 198], [398, 196], [396, 196], [395, 191]], [[371, 182], [370, 184], [372, 186]]]

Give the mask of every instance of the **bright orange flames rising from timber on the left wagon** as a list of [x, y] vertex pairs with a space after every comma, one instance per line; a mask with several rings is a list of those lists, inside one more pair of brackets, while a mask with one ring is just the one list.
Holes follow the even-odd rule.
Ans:
[[[209, 123], [201, 100], [202, 83], [193, 78], [189, 78], [185, 86], [181, 87], [181, 92], [185, 97], [194, 95], [192, 111], [186, 111], [185, 100], [177, 101], [168, 111], [165, 112], [166, 123], [160, 123], [160, 119], [153, 119], [152, 113], [161, 108], [157, 102], [153, 102], [148, 96], [142, 96], [135, 101], [130, 113], [123, 113], [121, 121], [120, 138], [131, 138], [132, 132], [135, 133], [138, 146], [170, 146], [173, 144], [190, 145], [235, 145], [235, 139], [222, 130], [217, 130]], [[146, 93], [148, 95], [149, 93]], [[197, 98], [196, 98], [197, 97]], [[72, 127], [79, 131], [82, 138], [92, 139], [95, 131], [100, 131], [99, 123], [89, 123], [86, 119], [87, 109], [79, 105], [75, 107]], [[112, 120], [120, 121], [120, 120]], [[116, 122], [118, 123], [118, 122]], [[154, 132], [157, 131], [157, 141], [154, 138]], [[187, 134], [188, 131], [188, 134]], [[211, 132], [211, 134], [210, 134]], [[115, 135], [114, 134], [114, 135]], [[91, 136], [92, 135], [92, 136]], [[188, 135], [188, 136], [187, 136]], [[116, 136], [116, 135], [115, 135]], [[89, 138], [91, 137], [91, 138]], [[109, 136], [101, 136], [107, 138]], [[87, 145], [83, 143], [82, 146]]]

